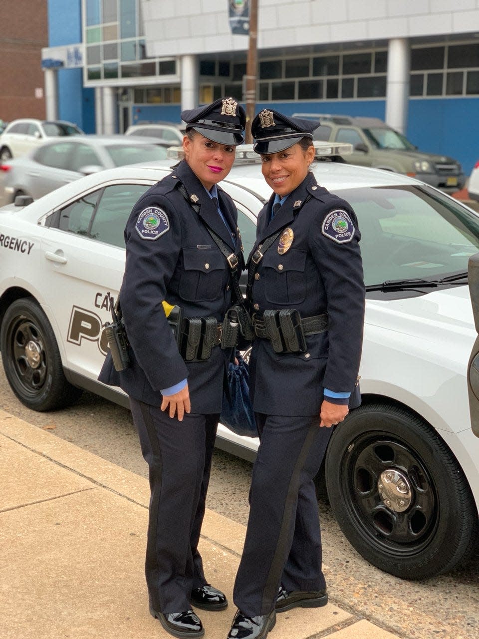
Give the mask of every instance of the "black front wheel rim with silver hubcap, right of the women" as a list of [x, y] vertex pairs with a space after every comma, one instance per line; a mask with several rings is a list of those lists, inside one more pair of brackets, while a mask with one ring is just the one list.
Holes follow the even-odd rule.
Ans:
[[432, 541], [439, 502], [420, 455], [390, 433], [364, 433], [340, 465], [354, 527], [377, 551], [411, 556]]

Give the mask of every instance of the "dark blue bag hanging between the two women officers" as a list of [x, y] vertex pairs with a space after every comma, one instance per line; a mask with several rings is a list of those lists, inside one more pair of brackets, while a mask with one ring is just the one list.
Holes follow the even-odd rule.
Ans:
[[[238, 364], [228, 364], [229, 394], [223, 393], [223, 406], [220, 422], [236, 435], [257, 437], [258, 429], [254, 419], [253, 407], [250, 400], [248, 364], [241, 355], [236, 356]], [[228, 396], [229, 395], [229, 396]]]

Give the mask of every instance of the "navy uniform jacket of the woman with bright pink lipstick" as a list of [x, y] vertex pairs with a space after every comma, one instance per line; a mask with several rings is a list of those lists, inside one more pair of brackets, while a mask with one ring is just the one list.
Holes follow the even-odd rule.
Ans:
[[[178, 190], [196, 196], [199, 213]], [[218, 188], [220, 207], [237, 235], [238, 212]], [[196, 199], [194, 198], [194, 199]], [[142, 220], [153, 213], [153, 224]], [[158, 212], [160, 210], [160, 212]], [[218, 322], [231, 305], [230, 270], [202, 220], [219, 235], [243, 265], [241, 242], [232, 238], [217, 207], [183, 160], [151, 187], [133, 207], [126, 223], [126, 265], [119, 293], [132, 365], [115, 371], [110, 353], [99, 376], [144, 403], [160, 406], [160, 389], [188, 378], [192, 413], [219, 413], [229, 350], [214, 346], [209, 360], [185, 363], [179, 355], [162, 301], [178, 305], [184, 318], [214, 316]], [[149, 227], [156, 228], [149, 231]], [[153, 233], [154, 240], [146, 239]]]

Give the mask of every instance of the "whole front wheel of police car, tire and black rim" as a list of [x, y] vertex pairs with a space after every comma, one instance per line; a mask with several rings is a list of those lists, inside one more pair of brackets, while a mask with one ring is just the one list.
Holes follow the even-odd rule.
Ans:
[[413, 413], [360, 406], [335, 429], [325, 463], [333, 514], [373, 566], [423, 580], [452, 570], [471, 548], [478, 514], [468, 481]]

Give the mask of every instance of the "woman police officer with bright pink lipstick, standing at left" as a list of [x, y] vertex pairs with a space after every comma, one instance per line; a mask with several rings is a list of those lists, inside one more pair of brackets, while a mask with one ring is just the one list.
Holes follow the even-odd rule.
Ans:
[[[197, 545], [232, 353], [222, 321], [231, 272], [244, 266], [238, 212], [217, 183], [243, 142], [246, 117], [222, 98], [181, 118], [185, 159], [139, 199], [126, 224], [119, 303], [131, 363], [117, 372], [109, 355], [99, 379], [130, 396], [149, 465], [149, 610], [171, 635], [199, 637], [204, 629], [191, 606], [227, 606], [204, 576]], [[179, 327], [169, 324], [172, 307], [183, 314]]]

